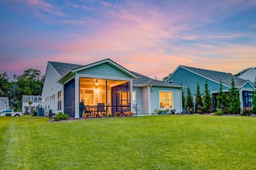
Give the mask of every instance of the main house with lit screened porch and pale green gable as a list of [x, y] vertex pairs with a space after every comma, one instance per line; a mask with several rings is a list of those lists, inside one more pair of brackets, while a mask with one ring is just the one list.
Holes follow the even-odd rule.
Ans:
[[[96, 109], [104, 103], [110, 114], [135, 111], [151, 114], [155, 109], [182, 111], [182, 86], [154, 80], [129, 71], [111, 59], [88, 65], [49, 61], [40, 105], [49, 111], [81, 117], [81, 103]], [[83, 107], [83, 105], [82, 105]]]

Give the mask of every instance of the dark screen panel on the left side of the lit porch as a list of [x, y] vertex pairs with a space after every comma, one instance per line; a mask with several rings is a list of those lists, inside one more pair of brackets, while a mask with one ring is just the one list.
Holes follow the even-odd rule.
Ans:
[[75, 79], [64, 85], [64, 113], [75, 117]]

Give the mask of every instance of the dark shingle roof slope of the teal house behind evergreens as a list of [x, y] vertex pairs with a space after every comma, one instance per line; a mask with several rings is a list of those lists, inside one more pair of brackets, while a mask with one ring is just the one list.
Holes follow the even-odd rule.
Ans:
[[200, 69], [200, 68], [195, 68], [195, 67], [188, 67], [188, 66], [184, 66], [184, 65], [181, 65], [181, 67], [189, 69], [190, 71], [198, 73], [202, 76], [206, 76], [207, 78], [210, 78], [217, 82], [220, 82], [222, 80], [223, 84], [226, 84], [228, 86], [231, 86], [231, 78], [234, 78], [236, 86], [238, 86], [238, 87], [242, 86], [246, 82], [246, 80], [244, 80], [242, 78], [238, 78], [237, 76], [233, 76], [228, 73], [224, 73], [224, 72], [220, 72], [220, 71], [212, 71], [212, 70]]

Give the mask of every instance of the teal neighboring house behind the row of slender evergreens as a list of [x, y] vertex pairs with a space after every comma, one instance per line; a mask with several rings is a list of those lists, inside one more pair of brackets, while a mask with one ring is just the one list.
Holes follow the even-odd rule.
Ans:
[[[223, 82], [223, 90], [227, 92], [228, 88], [231, 87], [231, 78], [234, 78], [235, 84], [239, 88], [241, 108], [251, 107], [253, 84], [249, 80], [244, 80], [228, 73], [179, 65], [171, 76], [167, 78], [166, 82], [189, 87], [191, 94], [196, 95], [197, 83], [200, 84], [200, 90], [203, 93], [205, 80], [208, 80], [209, 90], [213, 97], [213, 107], [216, 108], [216, 96], [220, 88], [220, 82]], [[186, 94], [186, 89], [184, 91]]]

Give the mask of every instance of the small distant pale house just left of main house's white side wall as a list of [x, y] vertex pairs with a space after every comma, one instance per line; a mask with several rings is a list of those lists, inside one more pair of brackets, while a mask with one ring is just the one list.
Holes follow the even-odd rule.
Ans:
[[[36, 110], [40, 104], [40, 95], [22, 95], [22, 112], [30, 113], [32, 110]], [[28, 105], [28, 100], [32, 101], [32, 105]], [[31, 110], [30, 110], [31, 108]]]

